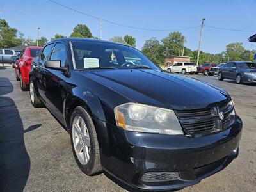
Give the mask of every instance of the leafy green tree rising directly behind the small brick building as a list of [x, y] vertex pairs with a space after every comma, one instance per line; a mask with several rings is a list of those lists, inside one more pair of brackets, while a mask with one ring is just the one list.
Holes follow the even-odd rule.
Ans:
[[185, 36], [180, 32], [169, 33], [161, 40], [165, 55], [181, 55]]

